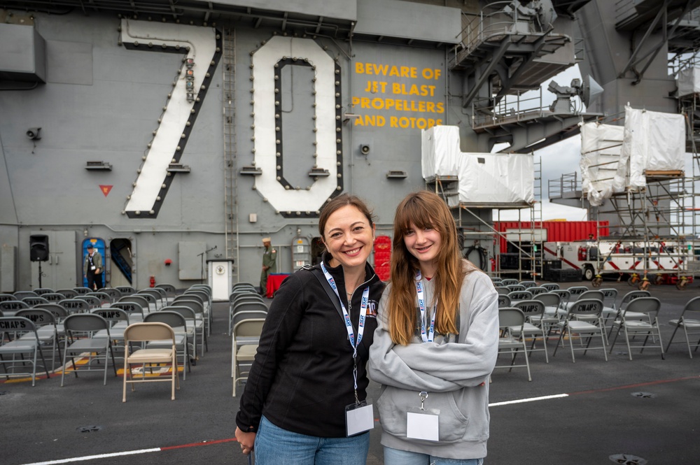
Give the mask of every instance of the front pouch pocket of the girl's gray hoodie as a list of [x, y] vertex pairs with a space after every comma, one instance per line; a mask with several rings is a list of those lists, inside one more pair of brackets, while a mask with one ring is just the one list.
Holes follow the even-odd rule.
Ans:
[[[407, 413], [414, 408], [420, 408], [421, 399], [417, 391], [386, 386], [375, 404], [384, 431], [392, 436], [406, 438]], [[469, 420], [457, 408], [452, 392], [430, 392], [423, 406], [426, 409], [440, 411], [437, 424], [441, 443], [454, 443], [464, 437]], [[410, 441], [433, 443], [433, 441], [419, 439]]]

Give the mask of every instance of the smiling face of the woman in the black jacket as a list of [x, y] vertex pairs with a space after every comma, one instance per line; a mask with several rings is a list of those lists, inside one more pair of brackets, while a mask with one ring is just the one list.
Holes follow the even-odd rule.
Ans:
[[333, 257], [330, 266], [344, 269], [363, 267], [372, 252], [374, 224], [357, 207], [346, 205], [329, 217], [323, 230], [323, 243]]

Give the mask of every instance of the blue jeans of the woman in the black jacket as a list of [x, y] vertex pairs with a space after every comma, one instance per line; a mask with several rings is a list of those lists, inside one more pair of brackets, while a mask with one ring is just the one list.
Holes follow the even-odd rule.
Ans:
[[319, 438], [281, 429], [265, 417], [255, 435], [255, 465], [364, 465], [369, 450], [369, 431]]

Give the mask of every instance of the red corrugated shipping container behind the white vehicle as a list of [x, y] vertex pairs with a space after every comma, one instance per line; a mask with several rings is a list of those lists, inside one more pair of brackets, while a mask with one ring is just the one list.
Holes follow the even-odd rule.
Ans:
[[[536, 221], [535, 229], [547, 230], [548, 242], [570, 242], [570, 241], [585, 241], [589, 234], [593, 234], [593, 238], [598, 236], [605, 237], [610, 235], [608, 228], [609, 222], [601, 221]], [[598, 230], [600, 226], [600, 230]], [[523, 221], [501, 221], [493, 223], [496, 231], [505, 234], [508, 229], [521, 229], [524, 232], [531, 230], [531, 222]], [[506, 250], [505, 236], [500, 237], [500, 252]]]

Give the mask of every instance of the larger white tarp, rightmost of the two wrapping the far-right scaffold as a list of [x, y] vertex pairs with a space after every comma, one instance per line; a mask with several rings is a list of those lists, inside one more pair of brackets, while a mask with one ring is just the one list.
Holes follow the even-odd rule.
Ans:
[[645, 171], [682, 171], [685, 157], [683, 115], [624, 107], [624, 140], [615, 175], [615, 189], [624, 189], [629, 161], [629, 187], [647, 185]]

